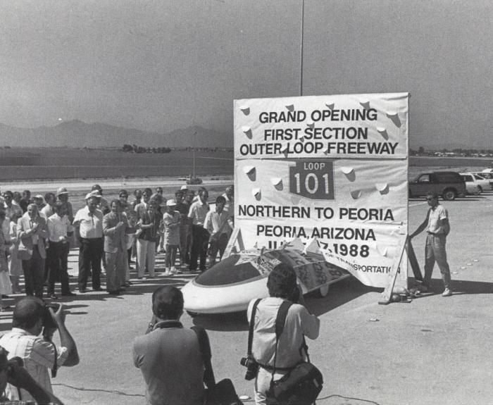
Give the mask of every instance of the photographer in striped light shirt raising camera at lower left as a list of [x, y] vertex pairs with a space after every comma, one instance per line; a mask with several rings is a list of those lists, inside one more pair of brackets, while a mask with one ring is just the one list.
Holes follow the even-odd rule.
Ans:
[[[51, 342], [51, 336], [57, 329], [61, 346]], [[45, 338], [39, 336], [42, 331]], [[8, 351], [9, 359], [14, 356], [23, 359], [32, 378], [47, 392], [53, 392], [49, 368], [54, 376], [58, 367], [76, 366], [79, 363], [77, 347], [65, 327], [63, 306], [60, 305], [54, 312], [35, 297], [25, 297], [15, 305], [12, 330], [0, 338], [0, 346]], [[17, 390], [11, 385], [7, 390], [10, 399], [33, 400], [25, 390]]]

